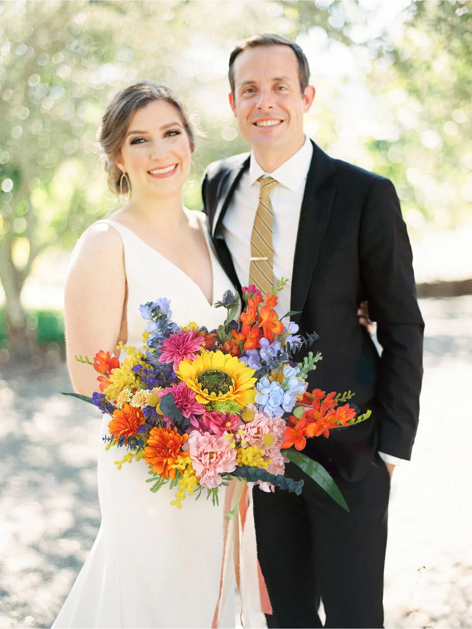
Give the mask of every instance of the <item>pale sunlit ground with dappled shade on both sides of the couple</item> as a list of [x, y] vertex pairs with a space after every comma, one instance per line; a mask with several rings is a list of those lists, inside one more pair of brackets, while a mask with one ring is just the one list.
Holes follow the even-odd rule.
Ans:
[[[412, 462], [395, 471], [386, 626], [470, 627], [472, 296], [420, 305], [421, 421]], [[99, 414], [60, 395], [64, 365], [3, 377], [0, 626], [48, 627], [98, 530]]]

